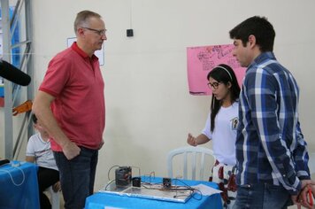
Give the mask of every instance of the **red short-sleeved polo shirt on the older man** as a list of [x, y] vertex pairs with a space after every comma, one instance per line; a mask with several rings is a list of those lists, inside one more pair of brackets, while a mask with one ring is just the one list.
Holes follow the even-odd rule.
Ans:
[[[79, 146], [98, 149], [105, 126], [104, 81], [95, 55], [76, 43], [50, 60], [39, 88], [55, 100], [51, 110], [65, 135]], [[62, 151], [53, 138], [53, 151]]]

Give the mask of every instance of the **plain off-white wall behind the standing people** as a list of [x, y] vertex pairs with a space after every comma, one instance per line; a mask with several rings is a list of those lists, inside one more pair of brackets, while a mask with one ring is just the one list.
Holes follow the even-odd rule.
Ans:
[[[253, 15], [264, 15], [276, 30], [275, 54], [301, 88], [303, 134], [314, 134], [315, 88], [311, 56], [315, 43], [312, 0], [33, 0], [35, 86], [50, 58], [73, 37], [81, 10], [100, 13], [108, 28], [104, 43], [106, 129], [96, 190], [111, 166], [140, 166], [142, 174], [166, 173], [166, 154], [186, 145], [188, 132], [204, 128], [211, 97], [188, 94], [186, 47], [232, 43], [228, 31]], [[134, 37], [130, 28], [130, 7]], [[82, 106], [84, 109], [84, 106]], [[211, 147], [211, 144], [205, 145]], [[113, 171], [111, 177], [113, 176]]]

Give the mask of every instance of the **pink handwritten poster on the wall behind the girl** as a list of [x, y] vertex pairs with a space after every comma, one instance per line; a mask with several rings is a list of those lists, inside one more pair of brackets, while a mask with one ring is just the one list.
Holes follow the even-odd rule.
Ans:
[[187, 48], [188, 87], [191, 95], [211, 95], [207, 74], [219, 64], [231, 66], [242, 86], [246, 68], [240, 66], [232, 55], [233, 44]]

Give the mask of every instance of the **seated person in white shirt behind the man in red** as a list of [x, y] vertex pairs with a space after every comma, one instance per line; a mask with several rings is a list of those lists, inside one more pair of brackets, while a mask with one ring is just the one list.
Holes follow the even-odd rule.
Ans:
[[32, 135], [27, 143], [27, 162], [39, 166], [37, 179], [40, 194], [41, 208], [51, 208], [49, 198], [43, 193], [44, 190], [53, 186], [54, 191], [60, 190], [59, 172], [56, 161], [50, 150], [49, 135], [37, 121], [35, 114], [32, 115], [34, 128], [39, 132]]

